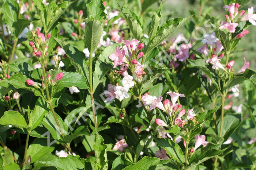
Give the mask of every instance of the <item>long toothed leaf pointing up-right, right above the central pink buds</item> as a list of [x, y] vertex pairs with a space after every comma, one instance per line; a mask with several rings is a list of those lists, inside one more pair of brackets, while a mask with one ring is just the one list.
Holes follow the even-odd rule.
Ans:
[[157, 35], [152, 40], [150, 40], [150, 42], [148, 42], [145, 53], [148, 53], [149, 51], [157, 47], [163, 40], [168, 38], [189, 18], [191, 18], [191, 16], [187, 18], [173, 18], [166, 21], [162, 27], [158, 28]]

